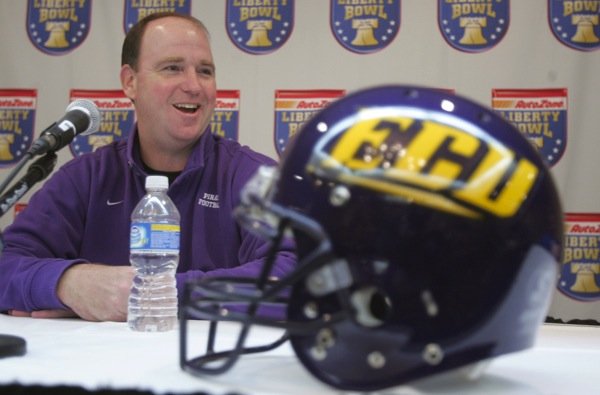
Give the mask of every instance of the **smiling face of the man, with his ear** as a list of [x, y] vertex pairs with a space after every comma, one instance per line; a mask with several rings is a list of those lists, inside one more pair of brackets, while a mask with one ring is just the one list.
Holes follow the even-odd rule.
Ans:
[[206, 33], [181, 18], [150, 22], [137, 71], [123, 66], [121, 82], [135, 102], [143, 144], [163, 150], [189, 147], [210, 123], [216, 102], [215, 66]]

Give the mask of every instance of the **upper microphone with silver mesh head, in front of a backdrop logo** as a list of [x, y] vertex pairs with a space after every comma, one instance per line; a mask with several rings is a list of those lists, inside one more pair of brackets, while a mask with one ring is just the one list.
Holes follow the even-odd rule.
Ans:
[[100, 127], [100, 111], [90, 101], [78, 99], [68, 105], [66, 114], [42, 132], [33, 143], [28, 154], [43, 155], [49, 151], [57, 151], [69, 144], [78, 134], [96, 133]]

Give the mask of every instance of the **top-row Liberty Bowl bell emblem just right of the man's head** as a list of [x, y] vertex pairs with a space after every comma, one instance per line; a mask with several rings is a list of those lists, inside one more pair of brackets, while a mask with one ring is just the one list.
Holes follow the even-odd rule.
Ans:
[[273, 52], [292, 34], [294, 0], [227, 0], [226, 7], [227, 34], [244, 52]]

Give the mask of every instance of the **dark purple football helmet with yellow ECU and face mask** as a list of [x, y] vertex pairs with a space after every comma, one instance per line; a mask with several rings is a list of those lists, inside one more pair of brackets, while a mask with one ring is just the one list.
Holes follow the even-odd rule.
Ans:
[[[318, 379], [369, 391], [522, 350], [544, 321], [562, 254], [560, 199], [537, 148], [493, 110], [422, 87], [331, 103], [279, 166], [248, 182], [236, 216], [272, 250], [259, 278], [187, 284], [181, 366], [195, 374], [289, 340]], [[297, 266], [272, 279], [290, 239]], [[197, 358], [185, 350], [189, 319], [210, 320]], [[221, 321], [242, 330], [216, 352]], [[254, 324], [285, 335], [246, 346]]]

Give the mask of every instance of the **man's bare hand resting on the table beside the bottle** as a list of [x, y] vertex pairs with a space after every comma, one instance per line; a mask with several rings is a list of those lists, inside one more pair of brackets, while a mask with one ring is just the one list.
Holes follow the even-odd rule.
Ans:
[[[63, 273], [57, 294], [73, 313], [85, 320], [125, 321], [133, 277], [134, 269], [131, 266], [81, 263]], [[36, 314], [48, 314], [51, 317], [53, 312], [46, 310], [45, 313]]]

